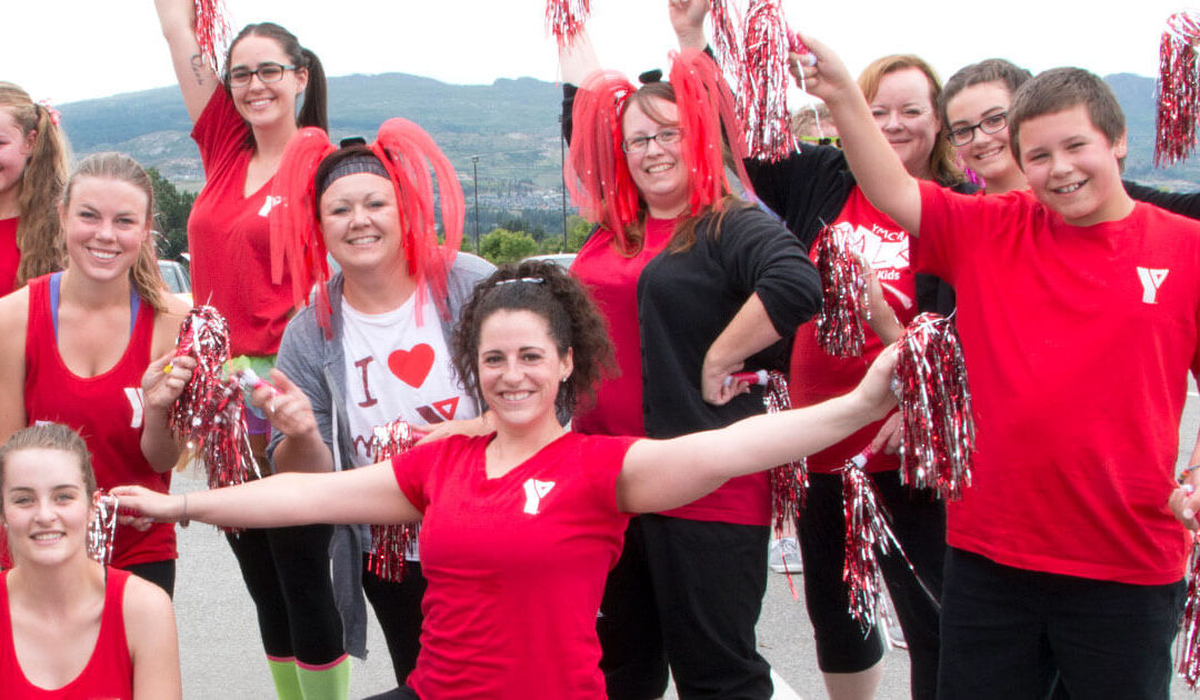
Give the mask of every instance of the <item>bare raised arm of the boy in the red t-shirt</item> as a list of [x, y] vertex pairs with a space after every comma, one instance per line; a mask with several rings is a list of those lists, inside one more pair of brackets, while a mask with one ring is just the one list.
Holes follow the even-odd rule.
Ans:
[[920, 190], [917, 179], [904, 169], [900, 157], [871, 116], [858, 84], [846, 66], [824, 44], [803, 37], [816, 56], [816, 65], [803, 65], [809, 56], [792, 54], [792, 73], [804, 76], [804, 88], [820, 97], [833, 113], [842, 150], [858, 186], [880, 211], [912, 235], [920, 233]]

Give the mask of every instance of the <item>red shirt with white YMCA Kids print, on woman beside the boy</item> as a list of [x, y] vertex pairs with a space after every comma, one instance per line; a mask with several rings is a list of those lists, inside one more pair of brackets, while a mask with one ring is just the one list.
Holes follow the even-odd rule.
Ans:
[[[917, 277], [908, 259], [908, 232], [871, 205], [863, 191], [854, 186], [846, 204], [834, 221], [834, 227], [847, 232], [852, 249], [871, 264], [883, 287], [883, 297], [896, 312], [900, 323], [907, 324], [917, 315]], [[816, 262], [816, 244], [810, 255]], [[817, 345], [817, 324], [810, 321], [796, 331], [792, 346], [792, 366], [787, 383], [792, 406], [811, 406], [841, 396], [858, 385], [883, 342], [870, 329], [864, 329], [863, 355], [838, 358]], [[815, 473], [841, 471], [846, 460], [863, 451], [880, 432], [883, 421], [872, 423], [838, 444], [809, 455], [809, 469]], [[896, 455], [877, 454], [866, 462], [869, 472], [896, 469]]]

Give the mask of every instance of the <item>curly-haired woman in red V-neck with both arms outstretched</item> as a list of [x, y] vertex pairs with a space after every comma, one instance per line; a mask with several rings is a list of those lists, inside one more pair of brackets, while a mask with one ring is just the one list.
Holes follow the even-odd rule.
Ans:
[[676, 508], [725, 480], [821, 449], [895, 405], [889, 352], [854, 390], [672, 439], [586, 436], [558, 413], [589, 397], [612, 348], [583, 287], [522, 263], [475, 287], [455, 367], [496, 432], [451, 436], [347, 472], [278, 474], [163, 496], [119, 489], [152, 519], [244, 527], [422, 521], [428, 588], [407, 696], [600, 700], [595, 616], [629, 514]]

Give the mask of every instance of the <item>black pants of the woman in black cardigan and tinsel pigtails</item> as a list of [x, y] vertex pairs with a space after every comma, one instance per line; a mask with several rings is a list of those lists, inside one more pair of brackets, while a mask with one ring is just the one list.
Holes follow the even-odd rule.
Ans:
[[[605, 592], [608, 606], [601, 606], [598, 628], [614, 627], [608, 622], [616, 615], [628, 616], [631, 611], [636, 615], [644, 610], [649, 588], [661, 648], [653, 648], [653, 635], [614, 639], [612, 630], [607, 630], [601, 638], [601, 644], [607, 646], [604, 654], [610, 659], [606, 681], [632, 677], [613, 668], [611, 662], [635, 656], [628, 646], [618, 648], [619, 645], [634, 645], [646, 650], [654, 663], [665, 653], [683, 700], [769, 699], [773, 693], [770, 665], [758, 653], [754, 632], [767, 590], [768, 528], [662, 515], [642, 515], [638, 520], [646, 550], [644, 568], [626, 562], [624, 580], [618, 578], [618, 584], [626, 588]], [[637, 578], [640, 572], [648, 574], [649, 586], [644, 578]], [[630, 627], [626, 624], [626, 630]], [[650, 672], [656, 682], [660, 671], [652, 668]], [[654, 692], [656, 687], [635, 690]], [[625, 694], [625, 689], [611, 683], [608, 696], [644, 700], [655, 695]]]

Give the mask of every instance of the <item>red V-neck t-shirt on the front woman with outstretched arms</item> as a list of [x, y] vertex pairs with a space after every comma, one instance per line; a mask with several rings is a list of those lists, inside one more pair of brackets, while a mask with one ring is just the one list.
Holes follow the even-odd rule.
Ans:
[[630, 437], [569, 432], [488, 479], [493, 435], [392, 460], [421, 510], [421, 698], [602, 700], [596, 612], [629, 516], [617, 475]]

